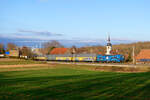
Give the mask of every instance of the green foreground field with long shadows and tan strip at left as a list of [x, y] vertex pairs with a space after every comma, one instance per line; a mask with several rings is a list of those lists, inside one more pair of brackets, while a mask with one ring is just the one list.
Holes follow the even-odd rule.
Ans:
[[11, 64], [0, 61], [0, 100], [150, 100], [150, 72], [34, 61]]

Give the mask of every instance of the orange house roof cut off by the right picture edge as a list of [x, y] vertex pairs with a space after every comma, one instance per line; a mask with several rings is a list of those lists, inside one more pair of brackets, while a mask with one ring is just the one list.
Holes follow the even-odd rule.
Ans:
[[136, 59], [150, 59], [150, 49], [142, 49]]

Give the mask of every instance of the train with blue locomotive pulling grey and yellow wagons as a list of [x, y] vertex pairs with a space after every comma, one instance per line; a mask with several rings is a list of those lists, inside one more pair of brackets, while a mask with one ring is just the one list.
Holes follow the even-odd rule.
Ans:
[[100, 55], [100, 54], [58, 54], [37, 56], [36, 60], [46, 61], [74, 61], [74, 62], [103, 62], [121, 63], [125, 58], [123, 55]]

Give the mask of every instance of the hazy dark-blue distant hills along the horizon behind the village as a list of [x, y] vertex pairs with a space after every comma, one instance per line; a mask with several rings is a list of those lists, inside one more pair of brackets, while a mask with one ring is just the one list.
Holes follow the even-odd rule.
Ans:
[[[39, 39], [28, 39], [28, 38], [10, 38], [10, 37], [0, 37], [0, 43], [6, 44], [7, 43], [14, 43], [17, 46], [28, 46], [28, 47], [42, 47], [44, 42], [48, 42], [51, 40], [39, 40]], [[103, 39], [70, 39], [70, 40], [57, 40], [65, 47], [72, 47], [75, 45], [76, 47], [84, 47], [84, 46], [97, 46], [101, 45], [104, 46], [106, 44], [106, 40]], [[132, 43], [134, 41], [129, 40], [112, 40], [113, 44], [120, 44], [120, 43]]]

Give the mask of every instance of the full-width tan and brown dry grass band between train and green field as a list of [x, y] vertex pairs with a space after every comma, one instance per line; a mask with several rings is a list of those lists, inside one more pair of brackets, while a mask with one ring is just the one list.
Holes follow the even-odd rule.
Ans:
[[[123, 72], [123, 73], [137, 73], [137, 72], [149, 72], [149, 66], [137, 66], [137, 67], [116, 67], [116, 66], [94, 66], [94, 65], [76, 65], [76, 64], [47, 64], [46, 62], [23, 60], [23, 59], [12, 59], [12, 58], [1, 58], [0, 59], [0, 72], [2, 71], [19, 71], [27, 69], [37, 70], [46, 68], [73, 68], [83, 69], [91, 71], [103, 71], [103, 72]], [[36, 69], [37, 68], [37, 69]]]

